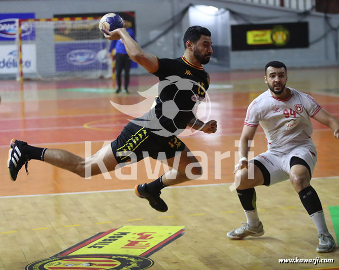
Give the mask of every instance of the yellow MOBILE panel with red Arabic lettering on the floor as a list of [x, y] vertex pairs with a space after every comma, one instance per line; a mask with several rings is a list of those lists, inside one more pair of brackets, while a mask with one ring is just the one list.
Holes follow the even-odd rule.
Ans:
[[[68, 254], [126, 254], [140, 256], [161, 247], [185, 226], [122, 226]], [[161, 242], [162, 245], [161, 245]]]

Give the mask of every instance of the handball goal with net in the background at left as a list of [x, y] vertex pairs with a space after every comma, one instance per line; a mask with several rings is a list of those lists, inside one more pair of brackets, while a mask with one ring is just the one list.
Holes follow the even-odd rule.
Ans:
[[17, 20], [18, 80], [109, 78], [109, 41], [100, 18]]

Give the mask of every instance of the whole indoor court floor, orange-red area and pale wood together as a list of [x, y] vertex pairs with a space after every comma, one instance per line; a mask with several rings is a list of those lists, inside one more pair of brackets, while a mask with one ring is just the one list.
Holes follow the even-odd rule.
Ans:
[[[311, 94], [326, 110], [339, 117], [339, 68], [289, 69], [288, 86]], [[211, 73], [211, 118], [218, 121], [215, 134], [181, 138], [200, 151], [204, 178], [165, 188], [162, 198], [169, 210], [153, 210], [137, 198], [133, 187], [156, 178], [150, 161], [133, 168], [82, 179], [39, 161], [30, 161], [29, 175], [21, 170], [16, 182], [8, 176], [11, 138], [48, 148], [61, 148], [84, 157], [114, 140], [128, 122], [110, 103], [135, 105], [157, 83], [154, 76], [133, 76], [130, 95], [115, 94], [109, 80], [72, 82], [1, 81], [0, 95], [0, 269], [15, 270], [53, 256], [99, 232], [123, 225], [182, 225], [185, 235], [150, 256], [151, 269], [314, 269], [339, 268], [338, 248], [328, 254], [315, 252], [316, 228], [303, 209], [289, 181], [257, 187], [257, 206], [265, 235], [242, 241], [226, 238], [228, 230], [246, 221], [233, 182], [235, 141], [239, 140], [248, 104], [266, 90], [263, 71]], [[332, 131], [314, 124], [313, 140], [318, 162], [312, 185], [322, 201], [327, 225], [335, 236], [329, 206], [339, 206], [339, 140]], [[85, 141], [88, 141], [85, 146]], [[91, 148], [88, 148], [88, 145]], [[254, 155], [266, 149], [258, 129]], [[215, 161], [230, 151], [230, 157]], [[148, 163], [147, 163], [148, 164]], [[133, 179], [121, 174], [137, 172]], [[162, 169], [159, 174], [162, 173]], [[338, 235], [336, 237], [339, 237]], [[281, 264], [280, 258], [326, 258], [331, 264]], [[73, 268], [72, 268], [73, 269]], [[76, 268], [74, 268], [76, 269]]]

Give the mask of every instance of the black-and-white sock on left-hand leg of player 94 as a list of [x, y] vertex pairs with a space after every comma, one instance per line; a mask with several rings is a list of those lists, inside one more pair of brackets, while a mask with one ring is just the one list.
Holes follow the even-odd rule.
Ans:
[[240, 202], [244, 208], [245, 215], [247, 218], [247, 223], [251, 227], [258, 227], [260, 224], [260, 219], [256, 209], [256, 193], [254, 187], [247, 189], [236, 189]]

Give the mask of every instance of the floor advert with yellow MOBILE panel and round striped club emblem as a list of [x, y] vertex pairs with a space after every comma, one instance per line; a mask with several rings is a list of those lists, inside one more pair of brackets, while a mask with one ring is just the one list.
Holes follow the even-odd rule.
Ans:
[[183, 236], [184, 226], [122, 226], [98, 233], [60, 253], [26, 265], [25, 270], [143, 270], [148, 257]]

